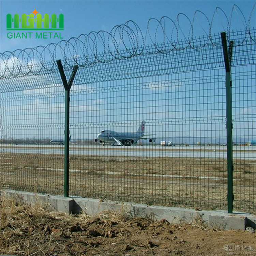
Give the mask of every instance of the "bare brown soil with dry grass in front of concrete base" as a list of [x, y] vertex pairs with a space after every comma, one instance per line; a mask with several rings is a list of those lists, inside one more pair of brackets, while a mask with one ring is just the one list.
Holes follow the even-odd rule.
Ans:
[[129, 219], [125, 212], [89, 217], [47, 211], [1, 196], [0, 253], [14, 255], [256, 255], [256, 233], [209, 230], [198, 220]]

